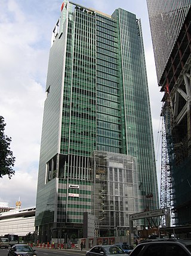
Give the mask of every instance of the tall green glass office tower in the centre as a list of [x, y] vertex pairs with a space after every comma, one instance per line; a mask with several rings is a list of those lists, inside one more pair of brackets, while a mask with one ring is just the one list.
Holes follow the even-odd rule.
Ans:
[[[70, 1], [53, 30], [36, 200], [40, 240], [125, 233], [130, 213], [158, 209], [149, 91], [140, 20]], [[138, 225], [138, 222], [137, 224]]]

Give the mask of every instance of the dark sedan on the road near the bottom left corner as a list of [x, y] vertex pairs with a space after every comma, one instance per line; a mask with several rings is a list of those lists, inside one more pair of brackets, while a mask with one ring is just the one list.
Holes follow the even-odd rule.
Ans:
[[13, 245], [8, 252], [8, 256], [36, 256], [35, 250], [29, 245]]

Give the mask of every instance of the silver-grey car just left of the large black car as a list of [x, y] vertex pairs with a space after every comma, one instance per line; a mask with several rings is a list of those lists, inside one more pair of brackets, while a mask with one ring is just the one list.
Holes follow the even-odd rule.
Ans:
[[126, 254], [121, 248], [115, 245], [96, 245], [90, 249], [85, 255], [86, 256], [97, 256], [97, 255], [115, 255], [115, 256], [125, 256]]

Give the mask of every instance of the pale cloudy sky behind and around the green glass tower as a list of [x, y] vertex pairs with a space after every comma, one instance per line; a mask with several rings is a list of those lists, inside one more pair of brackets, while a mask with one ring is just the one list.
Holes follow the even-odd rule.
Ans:
[[[156, 80], [155, 61], [146, 0], [73, 0], [85, 7], [112, 14], [124, 8], [141, 19], [146, 55], [157, 169], [160, 173], [161, 98]], [[1, 0], [0, 8], [0, 115], [5, 134], [12, 138], [16, 156], [11, 178], [0, 179], [0, 202], [22, 207], [35, 206], [51, 34], [60, 16], [61, 0]]]

